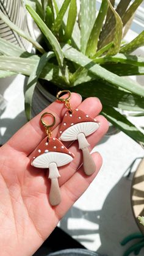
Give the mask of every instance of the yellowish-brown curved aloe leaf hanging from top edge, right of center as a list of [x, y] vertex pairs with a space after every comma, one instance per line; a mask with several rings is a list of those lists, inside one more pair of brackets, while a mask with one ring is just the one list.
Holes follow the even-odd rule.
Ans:
[[120, 16], [118, 13], [115, 11], [113, 8], [112, 4], [110, 3], [109, 0], [107, 0], [110, 9], [112, 10], [113, 14], [115, 15], [115, 35], [113, 38], [113, 45], [109, 49], [107, 55], [115, 55], [119, 52], [120, 46], [121, 46], [121, 38], [123, 35], [123, 23], [121, 21]]

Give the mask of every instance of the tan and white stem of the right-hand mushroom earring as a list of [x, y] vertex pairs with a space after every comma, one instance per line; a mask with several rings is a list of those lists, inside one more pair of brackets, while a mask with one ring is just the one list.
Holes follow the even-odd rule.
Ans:
[[90, 144], [88, 144], [84, 133], [77, 134], [77, 140], [79, 142], [79, 149], [82, 150], [84, 172], [86, 175], [92, 175], [96, 170], [96, 165], [88, 150]]

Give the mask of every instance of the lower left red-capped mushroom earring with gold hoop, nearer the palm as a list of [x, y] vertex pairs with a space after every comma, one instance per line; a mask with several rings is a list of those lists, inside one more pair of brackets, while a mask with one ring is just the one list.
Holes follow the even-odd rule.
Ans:
[[[48, 125], [43, 118], [50, 115], [53, 118], [53, 123]], [[59, 141], [56, 137], [52, 137], [50, 128], [56, 123], [54, 115], [45, 112], [41, 115], [41, 124], [45, 127], [47, 136], [35, 148], [32, 153], [31, 164], [37, 168], [48, 168], [51, 179], [51, 188], [49, 191], [49, 202], [52, 206], [59, 205], [61, 201], [60, 188], [58, 178], [60, 177], [57, 167], [64, 166], [70, 163], [74, 155]]]

